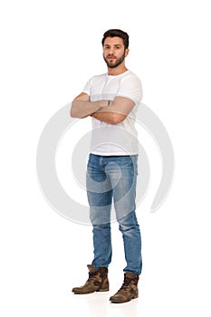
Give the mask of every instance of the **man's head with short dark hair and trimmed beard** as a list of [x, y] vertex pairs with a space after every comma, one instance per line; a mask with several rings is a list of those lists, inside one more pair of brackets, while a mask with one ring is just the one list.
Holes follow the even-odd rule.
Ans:
[[119, 29], [111, 29], [102, 38], [103, 58], [110, 68], [118, 67], [129, 53], [129, 35]]

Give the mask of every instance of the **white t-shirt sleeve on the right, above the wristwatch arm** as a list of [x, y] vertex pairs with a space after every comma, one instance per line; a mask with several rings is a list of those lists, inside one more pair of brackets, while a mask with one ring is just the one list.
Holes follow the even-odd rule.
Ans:
[[116, 95], [129, 98], [138, 105], [143, 97], [142, 85], [139, 78], [134, 74], [123, 78]]

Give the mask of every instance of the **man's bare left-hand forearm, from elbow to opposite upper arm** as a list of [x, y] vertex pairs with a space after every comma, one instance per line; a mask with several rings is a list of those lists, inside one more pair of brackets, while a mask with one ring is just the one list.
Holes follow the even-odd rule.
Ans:
[[86, 118], [107, 105], [108, 101], [83, 101], [75, 99], [72, 101], [71, 116], [73, 118]]

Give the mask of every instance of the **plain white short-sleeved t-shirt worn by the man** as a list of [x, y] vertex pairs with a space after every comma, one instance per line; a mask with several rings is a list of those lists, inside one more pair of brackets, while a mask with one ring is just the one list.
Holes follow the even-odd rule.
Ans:
[[116, 96], [126, 97], [135, 105], [125, 120], [108, 124], [92, 118], [91, 153], [101, 156], [135, 155], [139, 152], [136, 111], [142, 98], [139, 78], [130, 71], [117, 76], [108, 73], [93, 76], [83, 89], [90, 101], [113, 101]]

